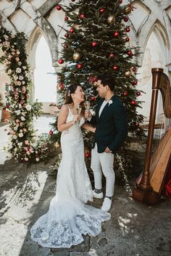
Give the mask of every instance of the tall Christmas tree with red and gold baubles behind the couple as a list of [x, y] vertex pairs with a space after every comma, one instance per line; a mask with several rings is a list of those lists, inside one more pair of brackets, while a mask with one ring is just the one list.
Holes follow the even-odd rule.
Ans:
[[[122, 0], [71, 0], [69, 6], [57, 5], [57, 12], [64, 12], [66, 27], [63, 48], [59, 57], [61, 66], [58, 75], [59, 104], [64, 103], [64, 94], [71, 83], [80, 83], [96, 110], [99, 96], [96, 91], [97, 76], [114, 76], [114, 94], [120, 97], [128, 112], [129, 136], [115, 157], [117, 170], [128, 170], [131, 157], [127, 148], [133, 136], [144, 135], [138, 115], [141, 107], [141, 91], [136, 89], [138, 80], [138, 48], [130, 46], [131, 25], [128, 15], [133, 12], [132, 4], [123, 5]], [[57, 127], [57, 124], [54, 125]], [[57, 133], [59, 135], [59, 133]], [[59, 140], [59, 136], [57, 136]], [[89, 166], [93, 135], [84, 132], [85, 157]]]

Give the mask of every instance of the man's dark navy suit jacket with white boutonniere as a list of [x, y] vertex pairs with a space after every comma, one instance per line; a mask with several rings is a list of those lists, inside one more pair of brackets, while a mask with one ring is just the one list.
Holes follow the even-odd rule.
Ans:
[[128, 119], [120, 99], [112, 96], [112, 104], [105, 105], [99, 117], [99, 110], [104, 99], [100, 99], [96, 108], [96, 116], [90, 120], [92, 125], [96, 125], [93, 147], [97, 144], [98, 152], [102, 153], [108, 146], [114, 154], [125, 141], [128, 135]]

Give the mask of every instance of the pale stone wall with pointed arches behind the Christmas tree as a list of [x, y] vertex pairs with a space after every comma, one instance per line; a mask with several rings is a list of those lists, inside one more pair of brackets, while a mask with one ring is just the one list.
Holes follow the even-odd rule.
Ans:
[[[0, 19], [1, 25], [13, 33], [23, 31], [28, 36], [28, 62], [35, 70], [36, 46], [43, 35], [49, 44], [52, 65], [57, 70], [59, 64], [59, 51], [61, 50], [62, 35], [64, 30], [64, 13], [58, 12], [56, 6], [70, 3], [70, 0], [1, 0]], [[148, 119], [149, 104], [151, 102], [151, 68], [162, 67], [170, 76], [171, 73], [171, 2], [170, 0], [135, 0], [135, 7], [130, 15], [133, 30], [130, 33], [130, 44], [139, 46], [142, 54], [138, 57], [138, 88], [146, 94], [140, 96], [145, 103], [138, 110]], [[127, 0], [123, 4], [128, 3]], [[4, 91], [4, 79], [1, 78], [0, 92]], [[33, 92], [34, 99], [34, 92]]]

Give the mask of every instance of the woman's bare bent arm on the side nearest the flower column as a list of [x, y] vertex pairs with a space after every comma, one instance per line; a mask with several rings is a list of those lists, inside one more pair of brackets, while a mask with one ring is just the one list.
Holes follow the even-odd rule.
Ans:
[[58, 131], [67, 130], [72, 125], [74, 125], [75, 122], [77, 121], [78, 115], [74, 115], [73, 120], [70, 121], [69, 123], [66, 123], [68, 112], [69, 112], [68, 107], [66, 105], [62, 106], [61, 110], [59, 111], [58, 120], [57, 120]]

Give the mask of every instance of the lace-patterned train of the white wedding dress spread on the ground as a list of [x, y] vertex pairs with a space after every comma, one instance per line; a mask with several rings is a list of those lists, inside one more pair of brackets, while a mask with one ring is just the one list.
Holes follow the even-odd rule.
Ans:
[[43, 218], [42, 221], [40, 218], [41, 223], [36, 222], [30, 230], [31, 238], [42, 247], [70, 248], [84, 240], [82, 234], [98, 236], [101, 233], [101, 222], [109, 220], [110, 214], [93, 207], [92, 209], [89, 212], [80, 210], [74, 218], [53, 221], [50, 225], [47, 220]]

